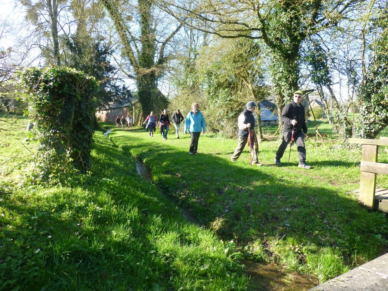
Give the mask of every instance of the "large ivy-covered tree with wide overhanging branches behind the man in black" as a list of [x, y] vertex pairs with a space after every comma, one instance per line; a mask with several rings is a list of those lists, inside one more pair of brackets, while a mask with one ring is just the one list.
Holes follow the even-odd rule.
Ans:
[[[224, 38], [262, 39], [270, 49], [272, 81], [281, 112], [300, 84], [300, 47], [308, 37], [338, 24], [362, 0], [193, 0], [160, 2], [177, 19]], [[206, 26], [203, 24], [206, 23]], [[281, 126], [281, 123], [279, 123]]]

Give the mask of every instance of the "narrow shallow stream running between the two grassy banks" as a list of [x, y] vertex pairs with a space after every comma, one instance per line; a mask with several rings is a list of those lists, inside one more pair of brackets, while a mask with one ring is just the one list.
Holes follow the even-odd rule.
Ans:
[[[108, 130], [104, 135], [107, 136], [109, 132], [111, 130]], [[135, 159], [135, 162], [137, 173], [152, 183], [152, 173], [149, 168], [140, 159]], [[190, 211], [177, 207], [188, 222], [207, 227], [194, 217]], [[309, 275], [288, 271], [275, 263], [255, 262], [249, 258], [241, 260], [241, 263], [245, 265], [245, 274], [251, 280], [249, 285], [251, 291], [305, 291], [319, 283]]]

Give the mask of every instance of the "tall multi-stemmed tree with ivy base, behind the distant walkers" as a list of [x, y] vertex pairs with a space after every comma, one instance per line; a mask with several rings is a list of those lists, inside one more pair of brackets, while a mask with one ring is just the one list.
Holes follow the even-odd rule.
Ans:
[[[166, 97], [158, 89], [158, 81], [169, 59], [166, 47], [182, 27], [183, 21], [175, 26], [166, 26], [165, 19], [158, 17], [158, 9], [150, 0], [139, 0], [137, 5], [118, 0], [101, 1], [109, 12], [120, 36], [123, 54], [133, 70], [133, 74], [127, 73], [127, 76], [136, 82], [138, 100], [145, 118], [150, 111], [167, 105]], [[165, 27], [160, 29], [161, 25]], [[170, 31], [169, 26], [173, 26]], [[168, 33], [163, 34], [163, 30]]]

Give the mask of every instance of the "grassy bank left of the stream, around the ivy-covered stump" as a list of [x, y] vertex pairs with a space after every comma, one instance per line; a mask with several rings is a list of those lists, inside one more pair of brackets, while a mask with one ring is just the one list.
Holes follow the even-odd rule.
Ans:
[[25, 127], [21, 117], [2, 123], [0, 290], [247, 288], [230, 244], [187, 222], [137, 175], [127, 148], [100, 131], [90, 175], [20, 183], [34, 162]]

